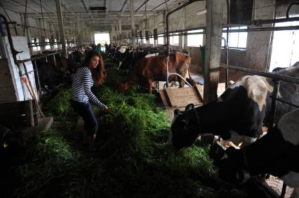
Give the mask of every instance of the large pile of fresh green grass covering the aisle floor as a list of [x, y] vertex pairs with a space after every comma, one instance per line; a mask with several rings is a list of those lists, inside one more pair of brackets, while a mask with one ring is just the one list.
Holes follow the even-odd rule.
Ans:
[[11, 169], [20, 181], [12, 197], [246, 197], [218, 187], [208, 147], [170, 148], [171, 124], [157, 97], [135, 87], [113, 92], [110, 85], [119, 76], [110, 71], [109, 81], [93, 90], [117, 114], [103, 114], [93, 106], [100, 115], [98, 151], [86, 152], [69, 136], [75, 136], [75, 114], [69, 90], [62, 90], [45, 107], [63, 123], [29, 140], [27, 160]]

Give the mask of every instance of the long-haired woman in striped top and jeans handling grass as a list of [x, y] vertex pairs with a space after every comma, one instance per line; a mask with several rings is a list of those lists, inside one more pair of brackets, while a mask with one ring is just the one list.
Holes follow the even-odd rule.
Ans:
[[[100, 64], [99, 64], [100, 63]], [[102, 57], [95, 50], [87, 53], [84, 62], [74, 76], [71, 90], [71, 105], [74, 111], [84, 120], [84, 143], [88, 143], [88, 148], [95, 151], [95, 136], [98, 132], [98, 121], [93, 115], [90, 101], [98, 105], [102, 111], [107, 111], [107, 106], [98, 100], [91, 92], [93, 84], [99, 86], [106, 78], [106, 71]]]

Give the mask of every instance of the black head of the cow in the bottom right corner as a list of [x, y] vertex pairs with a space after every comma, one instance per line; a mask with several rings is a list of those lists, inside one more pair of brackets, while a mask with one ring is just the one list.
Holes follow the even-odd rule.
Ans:
[[244, 167], [244, 152], [241, 149], [229, 147], [225, 157], [218, 162], [218, 176], [229, 183], [244, 183], [250, 178]]

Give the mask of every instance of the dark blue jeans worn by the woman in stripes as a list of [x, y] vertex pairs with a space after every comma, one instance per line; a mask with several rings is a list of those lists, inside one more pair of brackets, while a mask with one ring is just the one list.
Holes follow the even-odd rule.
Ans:
[[93, 109], [88, 102], [71, 101], [71, 106], [84, 120], [84, 129], [89, 136], [93, 136], [98, 133], [98, 121], [93, 115]]

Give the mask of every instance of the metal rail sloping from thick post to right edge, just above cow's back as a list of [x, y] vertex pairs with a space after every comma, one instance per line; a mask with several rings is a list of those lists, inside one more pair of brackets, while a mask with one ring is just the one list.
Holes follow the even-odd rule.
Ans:
[[292, 76], [284, 76], [284, 75], [277, 74], [277, 73], [274, 74], [274, 73], [256, 71], [256, 70], [253, 70], [253, 69], [247, 69], [247, 68], [232, 66], [232, 65], [228, 65], [228, 64], [221, 64], [221, 63], [220, 63], [220, 66], [223, 67], [223, 68], [232, 69], [232, 70], [240, 71], [240, 72], [243, 72], [243, 73], [251, 73], [253, 75], [264, 76], [264, 77], [267, 77], [267, 78], [273, 78], [275, 80], [284, 80], [288, 83], [299, 84], [299, 78], [294, 78]]

